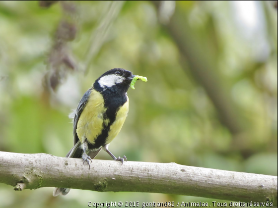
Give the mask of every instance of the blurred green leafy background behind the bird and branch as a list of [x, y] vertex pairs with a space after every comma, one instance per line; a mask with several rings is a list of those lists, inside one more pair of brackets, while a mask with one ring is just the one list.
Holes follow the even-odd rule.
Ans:
[[[121, 67], [148, 82], [128, 92], [114, 155], [277, 175], [277, 37], [277, 1], [0, 1], [0, 151], [65, 156], [69, 113], [95, 79]], [[0, 208], [212, 202], [52, 192], [0, 184]]]

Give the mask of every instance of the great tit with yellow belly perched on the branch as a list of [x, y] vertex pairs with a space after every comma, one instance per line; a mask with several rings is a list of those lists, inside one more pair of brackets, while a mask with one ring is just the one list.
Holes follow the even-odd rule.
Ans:
[[[101, 75], [85, 92], [74, 115], [74, 146], [66, 157], [82, 158], [90, 168], [91, 159], [103, 148], [114, 160], [122, 164], [127, 160], [126, 156], [114, 156], [108, 146], [128, 115], [127, 91], [135, 76], [128, 70], [114, 68]], [[69, 188], [55, 188], [53, 196], [69, 192]]]

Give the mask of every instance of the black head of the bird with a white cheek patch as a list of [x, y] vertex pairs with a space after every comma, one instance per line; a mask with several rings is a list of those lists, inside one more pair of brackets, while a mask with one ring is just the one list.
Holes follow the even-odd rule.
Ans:
[[135, 75], [132, 72], [114, 68], [101, 75], [93, 84], [96, 91], [111, 91], [111, 93], [126, 93]]

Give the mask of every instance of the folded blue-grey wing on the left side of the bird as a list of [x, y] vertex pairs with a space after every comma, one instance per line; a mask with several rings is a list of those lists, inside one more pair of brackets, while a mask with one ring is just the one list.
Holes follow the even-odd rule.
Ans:
[[81, 100], [78, 103], [78, 106], [77, 106], [77, 109], [75, 112], [75, 116], [74, 116], [74, 120], [73, 120], [73, 143], [74, 143], [74, 145], [79, 141], [79, 138], [76, 133], [77, 123], [78, 123], [79, 117], [80, 117], [84, 107], [88, 103], [89, 96], [91, 94], [91, 90], [92, 90], [92, 88], [90, 88], [89, 90], [87, 90], [84, 93], [83, 97], [81, 98]]

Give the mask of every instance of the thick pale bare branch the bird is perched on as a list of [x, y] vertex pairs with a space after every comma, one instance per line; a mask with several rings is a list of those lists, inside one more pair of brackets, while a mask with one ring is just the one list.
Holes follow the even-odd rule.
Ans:
[[277, 176], [176, 163], [93, 160], [0, 152], [0, 183], [14, 190], [66, 187], [93, 191], [152, 192], [277, 206]]

